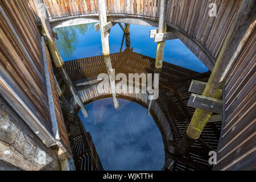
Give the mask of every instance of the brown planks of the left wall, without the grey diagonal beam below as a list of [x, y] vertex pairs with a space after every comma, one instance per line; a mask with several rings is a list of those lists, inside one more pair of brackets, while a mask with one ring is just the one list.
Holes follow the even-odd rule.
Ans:
[[[4, 12], [0, 13], [0, 69], [5, 73], [5, 81], [52, 134], [41, 35], [34, 23], [35, 16], [28, 2], [0, 2]], [[46, 53], [60, 138], [65, 148], [69, 149], [48, 49]], [[4, 87], [2, 82], [0, 86]]]

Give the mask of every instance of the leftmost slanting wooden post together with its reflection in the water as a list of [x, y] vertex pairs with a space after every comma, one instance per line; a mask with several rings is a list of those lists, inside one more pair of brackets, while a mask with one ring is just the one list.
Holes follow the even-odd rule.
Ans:
[[49, 22], [49, 17], [46, 10], [46, 5], [44, 5], [43, 0], [34, 0], [34, 4], [36, 7], [36, 11], [38, 12], [38, 16], [40, 18], [41, 26], [46, 33], [47, 39], [48, 39], [48, 46], [51, 51], [52, 59], [57, 68], [61, 68], [63, 71], [63, 77], [66, 82], [70, 85], [71, 93], [73, 94], [73, 97], [75, 98], [75, 101], [77, 102], [77, 105], [81, 107], [82, 114], [84, 117], [88, 117], [88, 111], [85, 109], [84, 104], [82, 103], [82, 100], [77, 93], [77, 90], [75, 86], [73, 85], [73, 82], [69, 78], [67, 72], [65, 71], [65, 68], [63, 67], [64, 61], [60, 56], [60, 52], [57, 48], [57, 44], [55, 42], [54, 36], [52, 34], [52, 28], [51, 24]]

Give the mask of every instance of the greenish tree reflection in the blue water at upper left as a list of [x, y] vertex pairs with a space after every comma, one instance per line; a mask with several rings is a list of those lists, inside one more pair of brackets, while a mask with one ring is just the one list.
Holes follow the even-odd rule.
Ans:
[[77, 44], [79, 43], [79, 35], [84, 35], [85, 32], [93, 30], [93, 27], [94, 23], [88, 23], [55, 28], [59, 38], [59, 40], [57, 40], [59, 50], [63, 52], [65, 56], [71, 58], [73, 52], [76, 50]]

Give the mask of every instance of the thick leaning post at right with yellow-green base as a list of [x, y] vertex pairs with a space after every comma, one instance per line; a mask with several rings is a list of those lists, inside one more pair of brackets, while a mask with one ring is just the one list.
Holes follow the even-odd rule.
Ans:
[[[226, 68], [230, 67], [231, 62], [237, 59], [237, 55], [239, 55], [236, 53], [237, 48], [240, 46], [243, 47], [243, 44], [246, 43], [249, 37], [248, 35], [253, 32], [253, 28], [251, 27], [255, 23], [255, 16], [252, 16], [255, 13], [254, 11], [254, 0], [241, 2], [233, 23], [229, 28], [228, 35], [224, 40], [224, 46], [221, 48], [220, 55], [218, 56], [207, 86], [202, 94], [204, 97], [212, 97], [217, 100], [221, 99], [222, 92], [220, 92], [220, 90], [225, 80], [222, 76], [226, 75]], [[234, 56], [236, 58], [234, 58]], [[209, 121], [210, 115], [212, 115], [212, 111], [196, 109], [187, 129], [189, 137], [193, 139], [200, 137], [205, 124]]]

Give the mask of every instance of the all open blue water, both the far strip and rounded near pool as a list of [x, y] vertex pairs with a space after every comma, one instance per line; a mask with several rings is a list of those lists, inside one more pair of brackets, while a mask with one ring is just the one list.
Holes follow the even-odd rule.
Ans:
[[[124, 24], [123, 24], [124, 27]], [[155, 57], [156, 43], [149, 38], [154, 27], [130, 26], [133, 51]], [[102, 55], [100, 31], [94, 31], [94, 23], [56, 28], [57, 45], [64, 61]], [[110, 52], [119, 52], [123, 31], [116, 24], [109, 36]], [[125, 49], [123, 43], [122, 51]], [[164, 61], [207, 72], [203, 63], [180, 40], [168, 40]], [[90, 132], [105, 170], [160, 170], [164, 165], [164, 146], [154, 119], [144, 107], [126, 100], [118, 100], [115, 110], [112, 99], [86, 105], [89, 118], [80, 118]]]

